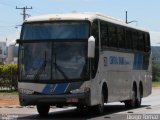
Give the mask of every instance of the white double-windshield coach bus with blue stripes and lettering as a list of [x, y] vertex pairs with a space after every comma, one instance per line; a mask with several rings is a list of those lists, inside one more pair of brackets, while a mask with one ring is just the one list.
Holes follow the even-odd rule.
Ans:
[[24, 21], [19, 43], [19, 99], [36, 105], [140, 107], [151, 94], [149, 32], [97, 13], [66, 13]]

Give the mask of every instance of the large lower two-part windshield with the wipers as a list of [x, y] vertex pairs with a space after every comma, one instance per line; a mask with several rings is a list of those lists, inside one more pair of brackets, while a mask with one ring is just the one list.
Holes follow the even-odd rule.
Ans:
[[23, 43], [20, 46], [22, 80], [83, 79], [85, 42]]

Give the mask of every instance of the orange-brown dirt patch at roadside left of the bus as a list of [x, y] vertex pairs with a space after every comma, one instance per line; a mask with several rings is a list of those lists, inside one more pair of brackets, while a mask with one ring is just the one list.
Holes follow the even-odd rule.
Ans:
[[19, 105], [18, 95], [0, 95], [0, 106]]

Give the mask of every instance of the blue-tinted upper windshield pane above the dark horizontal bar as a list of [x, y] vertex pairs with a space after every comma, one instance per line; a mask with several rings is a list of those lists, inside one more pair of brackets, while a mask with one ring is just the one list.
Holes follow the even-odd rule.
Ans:
[[89, 35], [88, 29], [88, 22], [25, 23], [21, 39], [86, 39]]

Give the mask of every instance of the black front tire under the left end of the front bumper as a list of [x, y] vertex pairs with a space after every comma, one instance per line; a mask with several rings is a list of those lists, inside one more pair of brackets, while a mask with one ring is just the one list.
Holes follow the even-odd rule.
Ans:
[[49, 112], [49, 105], [37, 105], [37, 111], [41, 116], [47, 116]]

